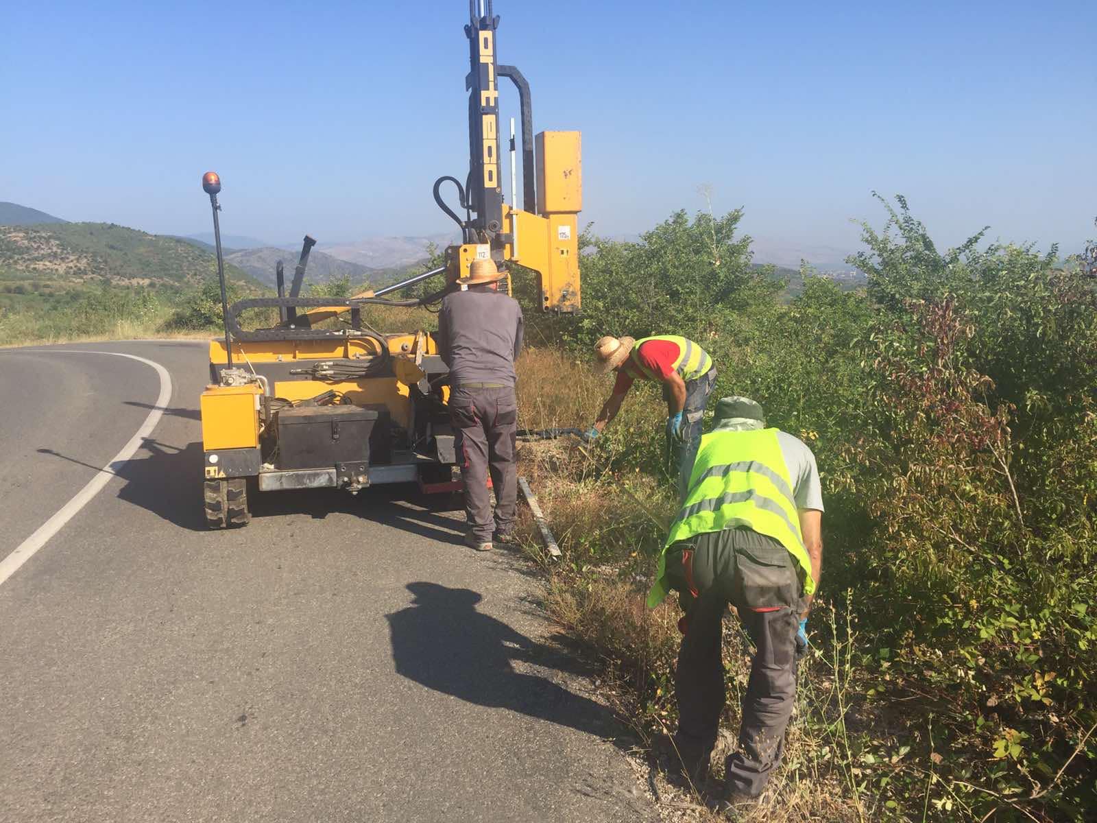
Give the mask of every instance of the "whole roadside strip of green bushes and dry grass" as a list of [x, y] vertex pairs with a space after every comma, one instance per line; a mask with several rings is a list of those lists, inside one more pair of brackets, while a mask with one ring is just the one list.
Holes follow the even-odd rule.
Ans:
[[[588, 424], [610, 391], [593, 340], [672, 331], [713, 354], [715, 396], [757, 398], [815, 451], [822, 597], [757, 820], [1092, 820], [1095, 252], [1064, 263], [981, 234], [942, 251], [905, 201], [881, 204], [855, 260], [867, 290], [805, 272], [789, 305], [750, 268], [737, 212], [677, 213], [635, 244], [588, 237], [584, 315], [528, 334], [520, 425]], [[649, 390], [596, 447], [521, 449], [564, 552], [550, 610], [643, 736], [675, 723], [677, 606], [643, 607], [674, 512], [664, 414]], [[734, 731], [748, 658], [731, 622]]]

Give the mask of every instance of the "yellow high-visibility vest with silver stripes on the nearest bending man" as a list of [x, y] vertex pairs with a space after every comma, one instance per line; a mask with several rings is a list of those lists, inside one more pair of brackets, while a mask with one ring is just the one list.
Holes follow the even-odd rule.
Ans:
[[649, 608], [658, 606], [670, 590], [667, 549], [697, 534], [742, 526], [788, 549], [800, 565], [803, 595], [814, 594], [812, 563], [777, 431], [713, 431], [701, 438], [689, 494], [659, 554], [655, 585], [647, 596]]

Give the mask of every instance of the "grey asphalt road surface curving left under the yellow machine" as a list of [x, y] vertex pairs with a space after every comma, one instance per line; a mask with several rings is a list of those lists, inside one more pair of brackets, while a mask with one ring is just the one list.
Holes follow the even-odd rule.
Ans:
[[0, 351], [0, 821], [657, 820], [539, 584], [406, 492], [205, 530], [190, 342]]

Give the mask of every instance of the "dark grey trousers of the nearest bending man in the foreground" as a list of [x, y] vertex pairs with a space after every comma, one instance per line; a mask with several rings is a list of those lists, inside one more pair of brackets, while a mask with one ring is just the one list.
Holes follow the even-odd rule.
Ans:
[[[676, 546], [685, 551], [679, 554]], [[691, 777], [703, 781], [724, 710], [722, 618], [732, 604], [755, 653], [743, 697], [739, 751], [727, 758], [726, 786], [757, 797], [781, 762], [796, 694], [796, 631], [803, 606], [798, 567], [778, 541], [745, 528], [701, 534], [676, 546], [669, 551], [677, 556], [668, 554], [667, 563], [672, 582], [681, 575], [686, 633], [675, 673], [675, 744]]]

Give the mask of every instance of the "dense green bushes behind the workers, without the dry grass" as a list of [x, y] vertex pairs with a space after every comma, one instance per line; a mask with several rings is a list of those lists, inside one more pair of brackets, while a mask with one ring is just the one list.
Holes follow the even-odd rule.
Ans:
[[[788, 306], [747, 268], [738, 213], [590, 238], [585, 314], [563, 337], [584, 358], [602, 334], [691, 337], [717, 394], [756, 397], [812, 446], [823, 593], [853, 591], [836, 606], [858, 624], [857, 745], [926, 764], [861, 760], [884, 818], [1082, 821], [1097, 807], [1097, 255], [1062, 266], [982, 234], [941, 252], [902, 198], [884, 205], [851, 259], [867, 293], [807, 278]], [[613, 462], [652, 471], [658, 438], [626, 435]]]

